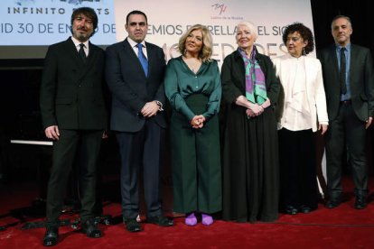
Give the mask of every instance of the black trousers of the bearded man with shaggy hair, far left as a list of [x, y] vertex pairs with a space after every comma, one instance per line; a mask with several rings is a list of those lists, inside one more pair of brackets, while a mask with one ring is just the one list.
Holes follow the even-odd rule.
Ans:
[[[74, 161], [79, 156], [79, 197], [82, 222], [94, 217], [98, 154], [103, 131], [60, 130], [53, 143], [51, 176], [47, 192], [47, 220], [57, 222]], [[78, 155], [79, 154], [79, 155]]]

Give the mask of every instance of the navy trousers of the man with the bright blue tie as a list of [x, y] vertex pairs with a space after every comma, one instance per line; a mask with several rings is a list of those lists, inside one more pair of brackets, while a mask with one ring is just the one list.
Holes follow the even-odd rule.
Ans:
[[139, 214], [139, 171], [143, 167], [145, 204], [148, 216], [162, 214], [160, 175], [163, 165], [164, 129], [145, 122], [137, 133], [117, 133], [121, 155], [121, 197], [124, 219]]

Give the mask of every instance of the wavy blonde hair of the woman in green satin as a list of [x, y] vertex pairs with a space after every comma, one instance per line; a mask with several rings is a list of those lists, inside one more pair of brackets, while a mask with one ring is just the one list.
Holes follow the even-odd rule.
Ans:
[[187, 37], [196, 30], [201, 30], [202, 32], [202, 48], [199, 57], [203, 62], [210, 61], [210, 57], [213, 53], [213, 39], [211, 38], [208, 28], [204, 25], [194, 24], [187, 32], [184, 32], [179, 39], [178, 49], [182, 54], [185, 53]]

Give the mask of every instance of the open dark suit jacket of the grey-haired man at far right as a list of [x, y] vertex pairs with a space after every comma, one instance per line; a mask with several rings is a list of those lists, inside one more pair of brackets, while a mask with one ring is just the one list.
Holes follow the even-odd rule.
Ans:
[[[326, 93], [327, 113], [332, 121], [339, 111], [341, 87], [336, 47], [332, 45], [318, 53], [323, 67], [323, 85]], [[374, 71], [369, 49], [351, 44], [351, 103], [362, 121], [374, 116]]]

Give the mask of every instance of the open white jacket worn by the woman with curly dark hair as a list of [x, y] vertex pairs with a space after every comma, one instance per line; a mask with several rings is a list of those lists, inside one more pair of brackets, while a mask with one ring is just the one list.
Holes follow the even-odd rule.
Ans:
[[[290, 59], [292, 59], [292, 56], [288, 53], [273, 59], [273, 63], [276, 67], [276, 76], [280, 79], [282, 85], [277, 115], [278, 127], [280, 128], [281, 125], [279, 124], [284, 113], [285, 99], [287, 99], [287, 91], [284, 89], [287, 89], [290, 71], [295, 70], [291, 66]], [[305, 56], [304, 69], [306, 71], [306, 96], [311, 112], [312, 130], [316, 132], [318, 130], [318, 124], [329, 124], [321, 62], [318, 59]]]

